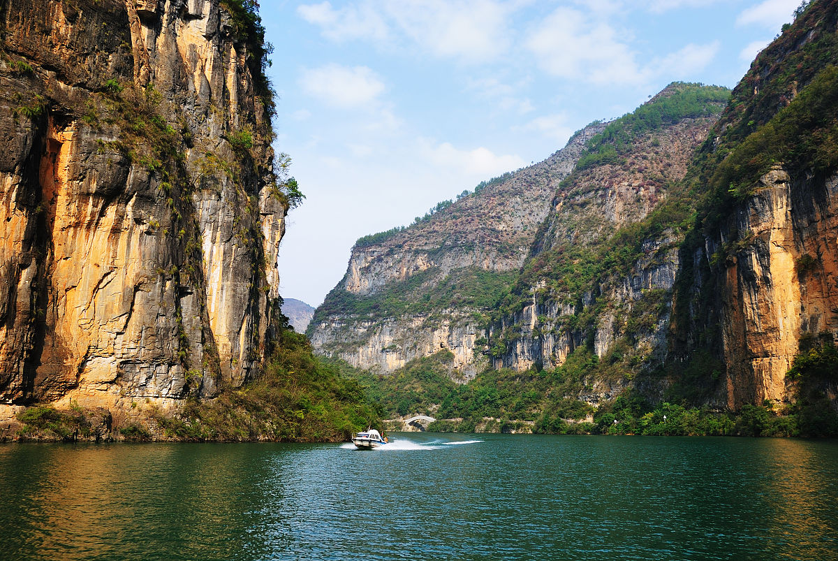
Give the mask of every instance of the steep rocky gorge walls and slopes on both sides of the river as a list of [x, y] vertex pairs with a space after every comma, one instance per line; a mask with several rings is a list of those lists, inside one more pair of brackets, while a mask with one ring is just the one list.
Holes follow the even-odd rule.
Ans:
[[672, 82], [361, 237], [308, 339], [258, 4], [6, 0], [0, 24], [3, 439], [639, 433], [674, 408], [838, 431], [836, 2], [732, 91]]

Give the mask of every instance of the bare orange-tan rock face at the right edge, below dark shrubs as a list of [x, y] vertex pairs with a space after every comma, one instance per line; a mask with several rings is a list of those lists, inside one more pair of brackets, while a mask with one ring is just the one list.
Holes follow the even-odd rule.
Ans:
[[716, 268], [730, 407], [783, 401], [801, 336], [838, 333], [838, 176], [778, 165], [760, 183], [732, 229], [753, 241]]

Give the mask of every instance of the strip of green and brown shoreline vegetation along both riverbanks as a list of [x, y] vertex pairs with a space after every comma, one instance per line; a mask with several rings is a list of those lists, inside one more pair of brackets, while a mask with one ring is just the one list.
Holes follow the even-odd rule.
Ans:
[[[606, 434], [648, 436], [838, 437], [830, 392], [838, 347], [810, 340], [788, 378], [792, 403], [766, 400], [738, 411], [690, 403], [675, 393], [653, 404], [636, 392], [594, 408], [584, 393], [593, 357], [577, 352], [555, 371], [487, 370], [454, 382], [453, 355], [439, 351], [393, 375], [360, 371], [314, 356], [308, 339], [283, 330], [264, 374], [219, 397], [189, 397], [178, 412], [141, 404], [133, 416], [104, 408], [33, 405], [0, 425], [0, 442], [345, 442], [367, 426], [399, 430], [399, 419], [426, 414], [439, 433]], [[460, 381], [462, 382], [462, 381]]]

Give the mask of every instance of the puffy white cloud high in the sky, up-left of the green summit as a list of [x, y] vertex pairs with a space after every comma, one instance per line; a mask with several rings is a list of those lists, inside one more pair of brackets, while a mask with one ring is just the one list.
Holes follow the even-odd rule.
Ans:
[[557, 8], [531, 30], [525, 46], [552, 75], [596, 84], [639, 84], [645, 72], [620, 34], [572, 8]]

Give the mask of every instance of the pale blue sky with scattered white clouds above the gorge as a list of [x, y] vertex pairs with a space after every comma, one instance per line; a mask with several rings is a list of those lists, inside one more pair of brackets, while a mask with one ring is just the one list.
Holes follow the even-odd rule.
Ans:
[[672, 81], [733, 87], [799, 0], [262, 0], [274, 148], [306, 195], [280, 293], [317, 306], [360, 236], [539, 162]]

